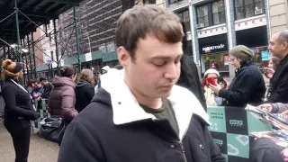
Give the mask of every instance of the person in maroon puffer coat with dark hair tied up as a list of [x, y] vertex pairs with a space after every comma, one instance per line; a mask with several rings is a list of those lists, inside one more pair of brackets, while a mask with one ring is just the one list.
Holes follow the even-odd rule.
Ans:
[[75, 79], [76, 67], [64, 66], [60, 75], [55, 76], [52, 81], [54, 85], [50, 92], [48, 111], [53, 118], [63, 118], [65, 121], [72, 121], [78, 112], [75, 109]]

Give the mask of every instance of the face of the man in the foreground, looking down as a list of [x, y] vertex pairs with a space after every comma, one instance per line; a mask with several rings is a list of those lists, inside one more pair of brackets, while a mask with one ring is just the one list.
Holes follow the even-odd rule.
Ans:
[[[125, 68], [132, 93], [144, 98], [164, 98], [180, 76], [182, 43], [166, 43], [148, 35], [140, 39], [134, 59]], [[126, 74], [127, 73], [127, 74]]]

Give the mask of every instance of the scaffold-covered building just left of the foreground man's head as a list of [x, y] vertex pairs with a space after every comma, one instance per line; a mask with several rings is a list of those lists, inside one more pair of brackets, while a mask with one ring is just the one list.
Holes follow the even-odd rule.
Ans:
[[[71, 23], [73, 14], [76, 14], [76, 27], [79, 29], [74, 30], [69, 27], [61, 31], [61, 41], [70, 39], [65, 56], [76, 57], [77, 54], [92, 53], [94, 51], [102, 51], [103, 53], [115, 51], [114, 29], [116, 22], [123, 11], [133, 5], [134, 0], [84, 0], [76, 10], [69, 9], [61, 14], [59, 16], [59, 26], [66, 26]], [[70, 35], [67, 34], [70, 32], [78, 32], [78, 34], [74, 34], [78, 35], [78, 39], [76, 37], [70, 38]], [[77, 44], [79, 44], [79, 47]], [[110, 66], [117, 63], [113, 62]], [[103, 62], [95, 64], [98, 67], [104, 66]]]

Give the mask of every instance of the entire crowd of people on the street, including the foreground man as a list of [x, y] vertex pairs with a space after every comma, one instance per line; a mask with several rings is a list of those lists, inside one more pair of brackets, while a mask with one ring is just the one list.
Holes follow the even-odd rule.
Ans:
[[[121, 14], [115, 39], [120, 65], [103, 67], [98, 83], [92, 70], [78, 72], [71, 65], [62, 67], [51, 83], [40, 77], [24, 88], [19, 83], [23, 64], [4, 60], [4, 126], [13, 138], [16, 162], [27, 161], [30, 121], [37, 119], [41, 100], [49, 101], [52, 118], [67, 123], [58, 162], [221, 162], [225, 157], [208, 130], [207, 105], [251, 104], [288, 113], [287, 30], [276, 32], [269, 43], [269, 85], [253, 51], [243, 45], [229, 50], [229, 62], [236, 68], [230, 83], [216, 66], [201, 82], [186, 53], [184, 22], [156, 5], [134, 6]], [[280, 148], [262, 145], [262, 139], [255, 140], [252, 161], [266, 161], [261, 153], [265, 148], [275, 150], [267, 153], [270, 157], [284, 161]]]

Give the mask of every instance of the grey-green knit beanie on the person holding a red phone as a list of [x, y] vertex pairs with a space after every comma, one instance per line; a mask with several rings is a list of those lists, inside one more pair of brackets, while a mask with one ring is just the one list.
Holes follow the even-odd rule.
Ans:
[[244, 45], [235, 46], [229, 50], [229, 54], [239, 59], [248, 59], [254, 57], [254, 52]]

